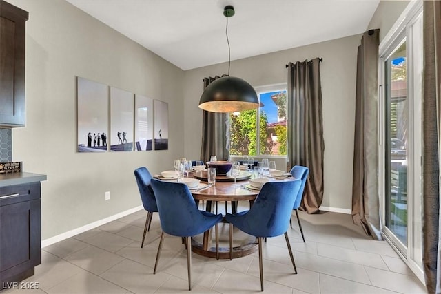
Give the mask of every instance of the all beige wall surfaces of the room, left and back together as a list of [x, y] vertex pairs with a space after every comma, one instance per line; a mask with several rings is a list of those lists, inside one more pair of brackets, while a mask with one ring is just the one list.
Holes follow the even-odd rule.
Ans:
[[[23, 161], [25, 171], [48, 175], [42, 184], [43, 240], [141, 205], [136, 167], [145, 165], [155, 173], [170, 168], [173, 158], [199, 157], [202, 78], [225, 73], [226, 63], [183, 72], [66, 1], [8, 1], [30, 13], [27, 123], [12, 131], [12, 160]], [[387, 33], [404, 7], [390, 2], [380, 2], [369, 28]], [[232, 62], [232, 76], [259, 86], [285, 83], [289, 61], [324, 59], [325, 207], [351, 208], [359, 43], [359, 35], [349, 36]], [[168, 102], [170, 149], [76, 153], [75, 76]], [[111, 200], [104, 200], [105, 191]]]

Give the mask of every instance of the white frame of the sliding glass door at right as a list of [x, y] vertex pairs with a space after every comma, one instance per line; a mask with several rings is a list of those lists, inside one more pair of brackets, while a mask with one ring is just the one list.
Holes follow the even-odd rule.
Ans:
[[[420, 32], [418, 31], [420, 30]], [[407, 246], [405, 246], [393, 232], [386, 227], [387, 195], [386, 180], [386, 132], [387, 127], [387, 101], [384, 79], [385, 62], [402, 43], [406, 42], [407, 56], [407, 99], [409, 99], [408, 121], [408, 144], [407, 144]], [[422, 198], [422, 63], [414, 62], [420, 58], [422, 61], [422, 1], [411, 1], [404, 10], [393, 29], [384, 37], [379, 46], [378, 59], [378, 193], [380, 195], [380, 213], [382, 235], [395, 249], [424, 283], [422, 271], [422, 248], [421, 248], [421, 198]], [[414, 58], [415, 57], [415, 58]], [[389, 180], [390, 182], [390, 180]], [[418, 235], [420, 234], [420, 235]]]

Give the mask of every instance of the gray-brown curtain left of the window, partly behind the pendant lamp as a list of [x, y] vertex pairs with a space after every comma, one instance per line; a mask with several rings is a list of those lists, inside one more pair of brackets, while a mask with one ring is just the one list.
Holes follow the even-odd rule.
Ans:
[[[223, 75], [225, 76], [225, 75]], [[220, 76], [204, 78], [205, 88]], [[218, 160], [229, 158], [229, 114], [203, 111], [202, 114], [202, 145], [201, 160], [209, 161], [210, 156], [216, 155]]]

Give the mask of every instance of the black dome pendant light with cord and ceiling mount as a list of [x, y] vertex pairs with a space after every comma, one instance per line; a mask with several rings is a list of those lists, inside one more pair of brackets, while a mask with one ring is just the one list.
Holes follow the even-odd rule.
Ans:
[[228, 76], [218, 78], [210, 83], [204, 90], [199, 101], [199, 108], [208, 112], [241, 112], [243, 110], [256, 109], [259, 101], [256, 91], [242, 78], [229, 76], [230, 48], [228, 40], [228, 18], [234, 15], [233, 6], [225, 6], [223, 15], [227, 17], [228, 43]]

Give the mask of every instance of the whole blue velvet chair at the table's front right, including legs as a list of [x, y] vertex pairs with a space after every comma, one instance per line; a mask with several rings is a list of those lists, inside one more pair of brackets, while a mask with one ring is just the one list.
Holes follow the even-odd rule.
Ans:
[[263, 238], [276, 237], [285, 234], [285, 241], [291, 257], [294, 272], [297, 273], [294, 255], [287, 235], [288, 220], [291, 218], [292, 207], [296, 201], [301, 181], [287, 180], [281, 182], [266, 182], [253, 206], [248, 211], [241, 211], [235, 215], [227, 213], [225, 219], [229, 222], [229, 252], [230, 260], [233, 252], [233, 226], [258, 239], [260, 288], [263, 291]]

